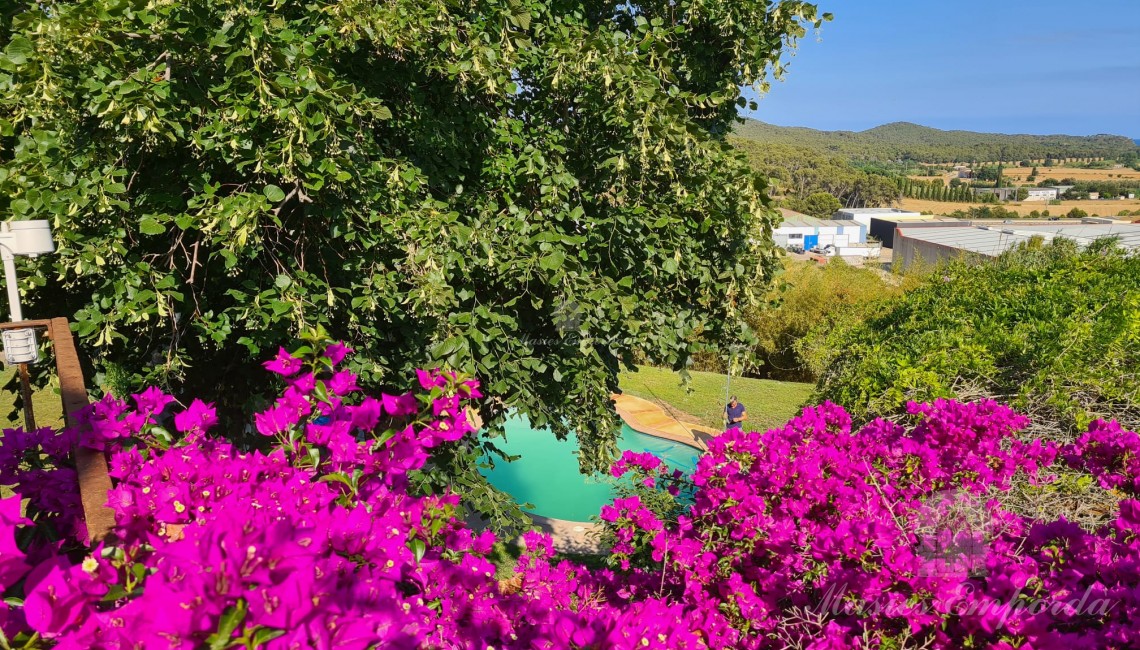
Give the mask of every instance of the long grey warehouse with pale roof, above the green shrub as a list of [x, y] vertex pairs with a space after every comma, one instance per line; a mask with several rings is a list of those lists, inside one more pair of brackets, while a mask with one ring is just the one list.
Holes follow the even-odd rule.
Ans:
[[1013, 246], [1040, 237], [1047, 242], [1062, 237], [1086, 246], [1097, 239], [1115, 237], [1121, 246], [1140, 251], [1140, 224], [1053, 224], [992, 225], [971, 228], [899, 228], [895, 233], [893, 268], [906, 269], [915, 263], [935, 265], [967, 257], [977, 260], [995, 258]]

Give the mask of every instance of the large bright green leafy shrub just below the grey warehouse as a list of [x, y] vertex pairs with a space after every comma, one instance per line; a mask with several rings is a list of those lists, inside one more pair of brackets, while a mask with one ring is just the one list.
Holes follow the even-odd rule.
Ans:
[[815, 348], [815, 399], [861, 421], [907, 400], [1001, 397], [1034, 430], [1068, 439], [1097, 417], [1140, 425], [1140, 258], [1110, 241], [1058, 239], [930, 282], [847, 323]]

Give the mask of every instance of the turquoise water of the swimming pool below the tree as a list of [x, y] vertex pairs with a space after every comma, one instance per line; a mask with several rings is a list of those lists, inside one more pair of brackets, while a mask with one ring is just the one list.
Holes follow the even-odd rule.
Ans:
[[[546, 430], [534, 430], [524, 416], [512, 416], [505, 423], [506, 438], [495, 445], [512, 456], [513, 463], [496, 461], [495, 469], [483, 469], [483, 476], [519, 503], [535, 507], [528, 512], [567, 519], [589, 521], [603, 505], [613, 501], [609, 478], [584, 476], [578, 471], [578, 441], [571, 436], [559, 440]], [[685, 473], [697, 469], [700, 452], [687, 445], [671, 442], [638, 433], [627, 424], [621, 425], [618, 447], [633, 452], [651, 452]]]

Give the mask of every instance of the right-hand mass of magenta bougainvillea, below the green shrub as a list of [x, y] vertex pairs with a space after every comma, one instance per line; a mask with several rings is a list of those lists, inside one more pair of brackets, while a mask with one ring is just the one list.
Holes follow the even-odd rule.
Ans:
[[1097, 422], [1058, 448], [1018, 440], [1026, 424], [993, 401], [936, 400], [910, 404], [905, 425], [856, 431], [824, 404], [714, 439], [675, 522], [636, 499], [603, 520], [634, 541], [621, 562], [706, 612], [710, 647], [1124, 647], [1140, 607], [1140, 502], [1088, 531], [991, 495], [1048, 481], [1060, 454], [1132, 496], [1140, 439]]

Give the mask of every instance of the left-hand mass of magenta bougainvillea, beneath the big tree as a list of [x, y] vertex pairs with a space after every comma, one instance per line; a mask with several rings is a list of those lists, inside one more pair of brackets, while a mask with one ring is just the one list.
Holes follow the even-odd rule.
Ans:
[[[211, 406], [157, 389], [107, 397], [58, 436], [6, 432], [0, 482], [19, 496], [0, 501], [5, 647], [698, 645], [678, 606], [643, 592], [611, 606], [611, 578], [555, 564], [535, 534], [500, 593], [495, 536], [464, 526], [454, 494], [415, 495], [445, 445], [474, 442], [477, 382], [421, 371], [415, 392], [361, 398], [342, 346], [300, 351], [266, 364], [284, 380], [253, 423], [269, 454], [213, 437]], [[114, 536], [93, 546], [74, 442], [104, 449], [115, 479]]]

